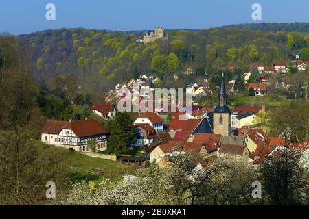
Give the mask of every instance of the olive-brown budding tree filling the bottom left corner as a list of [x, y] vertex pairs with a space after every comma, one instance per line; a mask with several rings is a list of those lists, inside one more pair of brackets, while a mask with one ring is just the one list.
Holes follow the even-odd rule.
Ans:
[[69, 183], [66, 156], [63, 149], [33, 140], [27, 131], [0, 131], [0, 204], [48, 204], [48, 181], [56, 184], [56, 196], [63, 194]]

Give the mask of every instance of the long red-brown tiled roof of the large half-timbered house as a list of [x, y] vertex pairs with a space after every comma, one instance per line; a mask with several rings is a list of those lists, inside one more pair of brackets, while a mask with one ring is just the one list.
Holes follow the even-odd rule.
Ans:
[[47, 121], [41, 129], [41, 133], [58, 134], [62, 129], [71, 129], [78, 137], [95, 136], [98, 134], [108, 133], [108, 131], [106, 131], [106, 129], [97, 120], [93, 119], [71, 122]]

